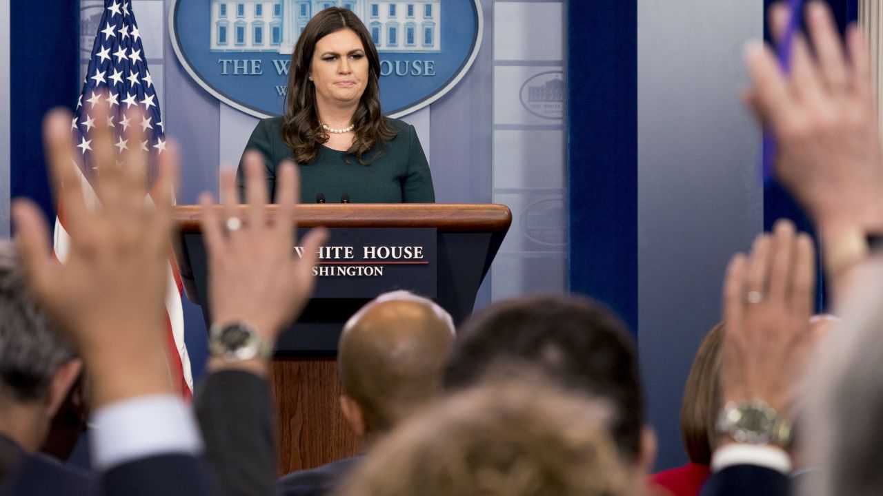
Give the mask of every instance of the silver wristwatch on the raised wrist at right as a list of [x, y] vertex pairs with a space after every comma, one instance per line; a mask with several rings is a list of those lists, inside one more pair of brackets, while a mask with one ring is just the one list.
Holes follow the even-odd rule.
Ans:
[[718, 415], [717, 432], [740, 443], [788, 447], [791, 425], [761, 400], [728, 402]]

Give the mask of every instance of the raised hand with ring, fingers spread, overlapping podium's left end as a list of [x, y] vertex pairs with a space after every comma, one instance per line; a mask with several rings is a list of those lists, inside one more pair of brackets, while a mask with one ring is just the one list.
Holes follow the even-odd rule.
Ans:
[[[325, 229], [310, 230], [303, 240], [303, 257], [298, 258], [292, 236], [297, 229], [295, 207], [300, 191], [297, 169], [291, 162], [279, 167], [279, 207], [270, 222], [263, 159], [251, 152], [243, 163], [249, 205], [244, 220], [238, 219], [238, 189], [232, 170], [221, 173], [223, 220], [210, 195], [200, 198], [213, 327], [243, 323], [274, 344], [313, 293], [313, 266], [328, 235]], [[265, 369], [266, 361], [258, 362]]]

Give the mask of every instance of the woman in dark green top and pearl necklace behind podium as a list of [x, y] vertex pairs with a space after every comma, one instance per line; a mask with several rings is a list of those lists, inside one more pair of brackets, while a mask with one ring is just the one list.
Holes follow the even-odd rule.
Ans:
[[[285, 114], [262, 119], [258, 150], [275, 198], [275, 169], [298, 163], [305, 203], [433, 203], [426, 154], [410, 124], [381, 114], [380, 57], [362, 21], [332, 7], [304, 27], [291, 54]], [[237, 180], [245, 194], [242, 163]]]

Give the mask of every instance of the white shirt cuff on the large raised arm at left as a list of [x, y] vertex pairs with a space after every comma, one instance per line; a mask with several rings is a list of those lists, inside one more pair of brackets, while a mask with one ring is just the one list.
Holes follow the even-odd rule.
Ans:
[[90, 425], [96, 470], [155, 455], [198, 455], [202, 451], [192, 410], [175, 395], [111, 403], [94, 411]]

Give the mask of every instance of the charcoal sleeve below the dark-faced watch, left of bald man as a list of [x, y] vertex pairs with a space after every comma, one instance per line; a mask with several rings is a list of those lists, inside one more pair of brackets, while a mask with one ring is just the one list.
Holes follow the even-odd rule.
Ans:
[[277, 494], [267, 381], [241, 371], [209, 373], [197, 388], [194, 404], [221, 494]]

